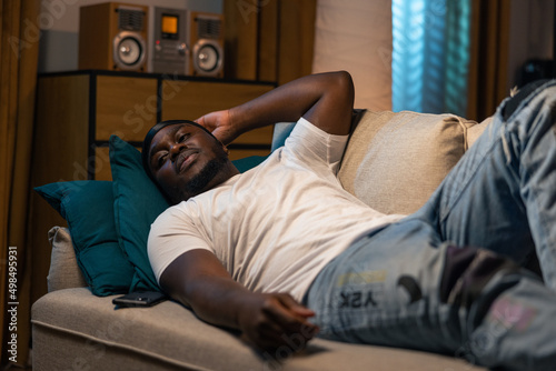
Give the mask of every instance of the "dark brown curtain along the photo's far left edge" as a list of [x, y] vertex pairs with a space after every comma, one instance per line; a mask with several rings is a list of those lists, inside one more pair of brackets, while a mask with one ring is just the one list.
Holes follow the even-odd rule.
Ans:
[[[39, 0], [0, 1], [0, 335], [2, 365], [26, 364], [30, 340], [30, 253], [26, 245]], [[16, 265], [17, 263], [17, 265]], [[16, 340], [13, 340], [16, 339]]]

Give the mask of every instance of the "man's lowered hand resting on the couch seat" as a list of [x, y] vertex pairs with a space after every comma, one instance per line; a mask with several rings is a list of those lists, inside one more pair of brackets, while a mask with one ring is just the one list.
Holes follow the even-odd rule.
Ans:
[[259, 349], [272, 351], [286, 345], [298, 351], [318, 332], [308, 321], [315, 312], [287, 293], [251, 293], [245, 299], [239, 328], [244, 340]]

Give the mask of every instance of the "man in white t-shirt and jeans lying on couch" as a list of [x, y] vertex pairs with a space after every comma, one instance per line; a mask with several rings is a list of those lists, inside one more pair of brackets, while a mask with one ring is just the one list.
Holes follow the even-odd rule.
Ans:
[[[262, 349], [318, 333], [552, 370], [556, 82], [503, 102], [407, 217], [370, 209], [336, 178], [353, 102], [347, 72], [322, 73], [200, 126], [155, 126], [143, 166], [176, 204], [149, 235], [160, 287]], [[298, 121], [285, 147], [239, 174], [222, 143], [279, 121]], [[544, 282], [522, 268], [535, 250]]]

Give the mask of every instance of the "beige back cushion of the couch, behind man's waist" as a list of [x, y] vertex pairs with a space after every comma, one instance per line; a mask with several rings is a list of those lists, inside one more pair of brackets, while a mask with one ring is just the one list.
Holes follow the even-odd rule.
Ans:
[[483, 126], [453, 114], [367, 111], [338, 173], [344, 188], [385, 213], [419, 209]]

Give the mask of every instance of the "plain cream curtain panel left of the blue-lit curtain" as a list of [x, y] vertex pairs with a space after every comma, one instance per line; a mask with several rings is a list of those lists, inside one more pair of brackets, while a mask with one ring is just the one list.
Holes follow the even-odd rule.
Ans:
[[355, 107], [391, 109], [390, 0], [319, 0], [312, 72], [347, 70]]

